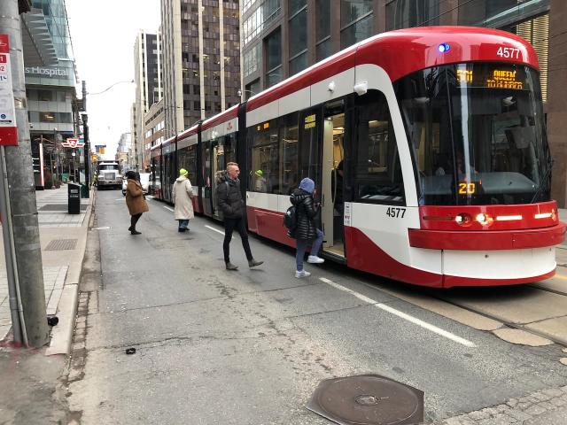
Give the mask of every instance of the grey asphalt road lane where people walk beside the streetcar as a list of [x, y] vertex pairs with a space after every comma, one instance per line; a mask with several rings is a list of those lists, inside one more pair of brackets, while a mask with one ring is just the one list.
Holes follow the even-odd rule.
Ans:
[[262, 238], [250, 240], [265, 264], [248, 269], [235, 236], [240, 270], [228, 272], [220, 223], [196, 218], [179, 234], [171, 206], [148, 202], [131, 236], [120, 191], [97, 192], [102, 278], [89, 289], [84, 374], [69, 385], [84, 424], [330, 423], [307, 402], [349, 375], [423, 390], [427, 421], [567, 384], [556, 344], [509, 344], [346, 267], [307, 265], [296, 279], [294, 251]]

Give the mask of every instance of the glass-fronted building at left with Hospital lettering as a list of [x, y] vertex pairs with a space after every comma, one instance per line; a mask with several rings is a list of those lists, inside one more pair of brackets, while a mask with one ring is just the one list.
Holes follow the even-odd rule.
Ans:
[[79, 135], [77, 74], [65, 0], [33, 0], [21, 15], [27, 111], [35, 185], [78, 178], [72, 150], [61, 141]]

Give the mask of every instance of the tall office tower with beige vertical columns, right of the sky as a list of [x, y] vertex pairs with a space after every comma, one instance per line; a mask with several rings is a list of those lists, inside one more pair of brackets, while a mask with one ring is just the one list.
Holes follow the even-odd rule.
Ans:
[[238, 0], [162, 0], [165, 135], [240, 100]]

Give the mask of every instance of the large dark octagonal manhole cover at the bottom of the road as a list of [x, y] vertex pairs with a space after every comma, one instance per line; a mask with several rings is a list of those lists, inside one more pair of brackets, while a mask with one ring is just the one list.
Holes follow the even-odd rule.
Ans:
[[307, 409], [341, 425], [408, 425], [423, 422], [423, 391], [379, 375], [319, 383]]

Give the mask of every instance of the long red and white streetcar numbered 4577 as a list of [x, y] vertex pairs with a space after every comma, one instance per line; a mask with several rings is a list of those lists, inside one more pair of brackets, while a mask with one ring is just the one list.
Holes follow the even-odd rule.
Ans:
[[539, 64], [522, 38], [479, 27], [376, 35], [151, 149], [171, 202], [189, 171], [194, 209], [222, 220], [216, 174], [241, 170], [248, 228], [294, 246], [291, 191], [316, 184], [322, 257], [431, 288], [539, 282], [565, 224]]

